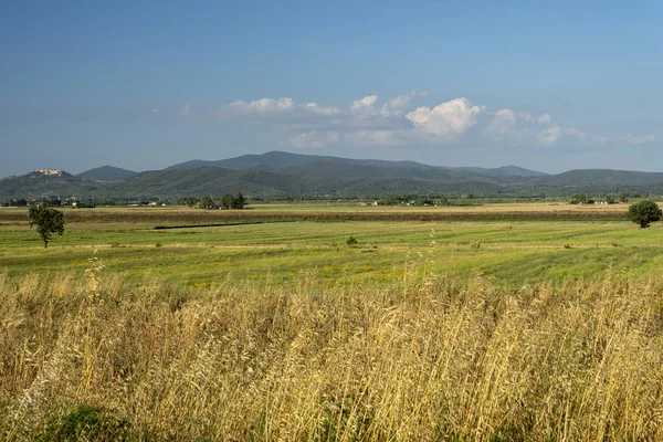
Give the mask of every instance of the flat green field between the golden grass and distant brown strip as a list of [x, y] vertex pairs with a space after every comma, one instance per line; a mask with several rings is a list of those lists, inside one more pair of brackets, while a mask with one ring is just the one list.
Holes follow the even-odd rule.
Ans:
[[[10, 277], [83, 271], [96, 251], [107, 272], [187, 285], [209, 285], [229, 275], [293, 282], [303, 272], [335, 284], [380, 283], [412, 266], [518, 285], [594, 277], [608, 270], [642, 276], [663, 264], [663, 229], [641, 230], [628, 221], [240, 221], [155, 230], [178, 223], [167, 218], [171, 212], [162, 213], [164, 220], [149, 222], [139, 217], [70, 222], [48, 250], [25, 221], [2, 221], [0, 270]], [[349, 236], [357, 244], [348, 246]]]

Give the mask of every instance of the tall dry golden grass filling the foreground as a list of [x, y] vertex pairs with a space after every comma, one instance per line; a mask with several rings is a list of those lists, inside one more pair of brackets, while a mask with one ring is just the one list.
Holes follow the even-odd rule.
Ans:
[[423, 275], [199, 292], [97, 263], [0, 276], [0, 439], [663, 438], [663, 282]]

